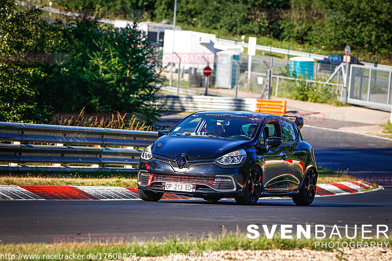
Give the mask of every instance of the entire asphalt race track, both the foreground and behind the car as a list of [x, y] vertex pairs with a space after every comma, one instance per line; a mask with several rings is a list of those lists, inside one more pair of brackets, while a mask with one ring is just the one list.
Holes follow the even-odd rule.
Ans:
[[[358, 176], [392, 175], [392, 141], [304, 127], [319, 166]], [[392, 228], [392, 188], [317, 197], [309, 207], [291, 199], [260, 199], [257, 206], [234, 201], [0, 201], [0, 242], [50, 242], [53, 236], [123, 235], [128, 240], [219, 235], [222, 227], [245, 232], [249, 224], [322, 224]], [[259, 230], [262, 232], [261, 230]], [[374, 231], [374, 230], [373, 230]]]

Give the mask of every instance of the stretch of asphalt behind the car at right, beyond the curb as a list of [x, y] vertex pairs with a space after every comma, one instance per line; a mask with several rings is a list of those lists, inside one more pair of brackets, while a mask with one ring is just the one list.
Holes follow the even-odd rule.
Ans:
[[392, 140], [306, 126], [301, 133], [313, 145], [318, 166], [348, 170], [364, 180], [375, 182], [377, 178], [383, 186], [392, 185]]

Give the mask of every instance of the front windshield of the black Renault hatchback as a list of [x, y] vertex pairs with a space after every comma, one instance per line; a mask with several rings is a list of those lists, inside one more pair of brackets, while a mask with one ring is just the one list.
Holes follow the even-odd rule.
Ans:
[[175, 126], [169, 135], [250, 140], [260, 121], [257, 115], [241, 113], [193, 114]]

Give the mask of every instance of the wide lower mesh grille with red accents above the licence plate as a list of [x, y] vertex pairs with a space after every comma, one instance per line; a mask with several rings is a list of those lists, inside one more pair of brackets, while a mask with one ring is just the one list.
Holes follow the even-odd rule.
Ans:
[[[201, 176], [201, 175], [176, 175], [176, 174], [153, 174], [151, 185], [160, 185], [162, 182], [184, 182], [204, 185], [200, 188], [207, 189], [212, 187], [218, 190], [234, 190], [233, 180], [221, 176]], [[158, 184], [157, 184], [158, 183]]]

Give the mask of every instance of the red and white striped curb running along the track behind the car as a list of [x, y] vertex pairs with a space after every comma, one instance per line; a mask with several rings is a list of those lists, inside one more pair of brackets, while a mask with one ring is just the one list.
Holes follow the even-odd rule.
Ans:
[[[371, 191], [373, 186], [363, 180], [319, 184], [316, 196], [344, 195], [364, 190]], [[383, 189], [383, 187], [379, 187]], [[12, 186], [0, 185], [1, 200], [141, 200], [134, 187], [93, 187], [93, 186]], [[198, 199], [165, 193], [162, 199]], [[267, 199], [267, 198], [263, 198]]]

